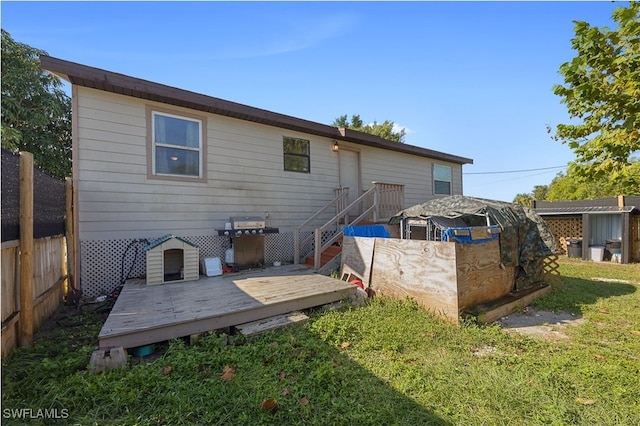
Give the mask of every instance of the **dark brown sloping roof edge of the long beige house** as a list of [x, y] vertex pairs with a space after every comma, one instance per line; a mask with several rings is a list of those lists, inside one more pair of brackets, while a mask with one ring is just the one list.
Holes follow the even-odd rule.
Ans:
[[254, 108], [51, 56], [40, 56], [40, 66], [69, 81], [71, 84], [78, 86], [224, 115], [239, 120], [352, 142], [359, 145], [403, 152], [434, 160], [456, 164], [473, 164], [473, 160], [470, 158], [389, 141], [379, 136], [358, 132], [356, 130], [336, 128], [326, 124]]

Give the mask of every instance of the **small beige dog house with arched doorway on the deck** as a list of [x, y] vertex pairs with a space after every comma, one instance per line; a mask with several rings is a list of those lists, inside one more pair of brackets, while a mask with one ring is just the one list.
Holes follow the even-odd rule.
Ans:
[[200, 278], [198, 246], [165, 235], [147, 246], [147, 284], [195, 281]]

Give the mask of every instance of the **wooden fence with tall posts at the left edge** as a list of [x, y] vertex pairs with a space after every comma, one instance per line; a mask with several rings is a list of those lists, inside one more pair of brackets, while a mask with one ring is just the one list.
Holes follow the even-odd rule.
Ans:
[[[67, 196], [71, 193], [67, 181]], [[67, 223], [71, 220], [67, 202]], [[20, 239], [2, 243], [2, 357], [33, 335], [70, 285], [65, 236], [33, 238], [33, 155], [20, 155]]]

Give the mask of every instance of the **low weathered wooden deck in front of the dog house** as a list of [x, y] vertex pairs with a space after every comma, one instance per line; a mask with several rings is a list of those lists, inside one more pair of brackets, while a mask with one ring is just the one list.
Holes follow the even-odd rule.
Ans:
[[307, 309], [356, 292], [302, 265], [283, 265], [198, 281], [125, 283], [98, 335], [100, 348], [132, 348]]

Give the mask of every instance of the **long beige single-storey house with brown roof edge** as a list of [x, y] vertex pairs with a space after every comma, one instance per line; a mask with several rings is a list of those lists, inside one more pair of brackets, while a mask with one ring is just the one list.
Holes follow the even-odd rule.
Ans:
[[139, 252], [163, 235], [198, 246], [201, 258], [224, 258], [231, 217], [262, 218], [272, 231], [260, 240], [264, 263], [298, 262], [313, 246], [300, 235], [318, 229], [300, 231], [310, 218], [362, 219], [369, 210], [361, 197], [371, 189], [373, 219], [462, 194], [462, 166], [472, 163], [49, 56], [40, 61], [72, 85], [75, 276], [88, 295], [111, 291], [129, 273], [144, 275]]

